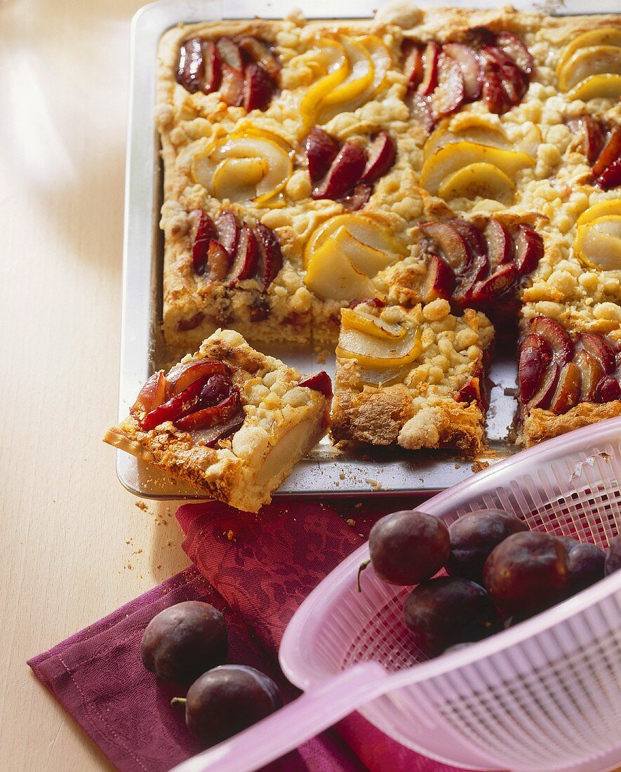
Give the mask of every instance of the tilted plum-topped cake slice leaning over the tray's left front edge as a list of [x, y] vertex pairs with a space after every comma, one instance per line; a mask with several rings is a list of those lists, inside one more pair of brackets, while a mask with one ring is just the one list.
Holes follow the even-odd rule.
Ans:
[[167, 374], [154, 373], [104, 441], [257, 512], [326, 433], [331, 397], [326, 373], [303, 378], [217, 330]]

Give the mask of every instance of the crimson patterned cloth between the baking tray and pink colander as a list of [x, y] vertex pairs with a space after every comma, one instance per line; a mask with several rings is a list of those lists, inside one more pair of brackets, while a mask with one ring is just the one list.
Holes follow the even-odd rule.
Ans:
[[[337, 513], [309, 499], [278, 499], [258, 515], [209, 502], [181, 506], [177, 520], [186, 534], [184, 550], [198, 571], [276, 657], [295, 610], [363, 543], [373, 523], [422, 501], [420, 496], [375, 496], [362, 504], [341, 499]], [[336, 730], [371, 772], [454, 772], [390, 740], [359, 713]]]

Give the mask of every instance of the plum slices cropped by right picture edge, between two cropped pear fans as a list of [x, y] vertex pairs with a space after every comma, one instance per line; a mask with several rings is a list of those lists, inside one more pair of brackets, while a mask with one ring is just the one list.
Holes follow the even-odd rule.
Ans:
[[608, 130], [601, 120], [590, 116], [568, 120], [567, 125], [593, 168], [593, 185], [605, 191], [621, 185], [621, 125]]

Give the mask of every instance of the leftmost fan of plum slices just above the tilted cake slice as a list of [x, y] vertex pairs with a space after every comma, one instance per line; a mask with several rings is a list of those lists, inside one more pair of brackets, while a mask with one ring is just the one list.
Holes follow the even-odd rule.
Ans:
[[282, 268], [278, 236], [258, 222], [254, 228], [240, 226], [230, 211], [213, 222], [202, 209], [190, 215], [194, 272], [208, 283], [235, 286], [243, 279], [256, 279], [268, 289]]

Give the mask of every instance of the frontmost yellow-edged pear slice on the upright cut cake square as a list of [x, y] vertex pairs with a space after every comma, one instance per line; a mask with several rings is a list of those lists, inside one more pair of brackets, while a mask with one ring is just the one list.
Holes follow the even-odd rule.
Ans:
[[341, 327], [336, 356], [355, 359], [358, 364], [373, 370], [403, 367], [420, 357], [423, 350], [421, 337], [420, 327], [400, 340], [382, 340], [362, 330]]

